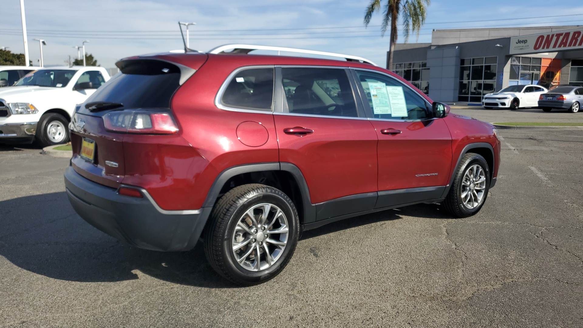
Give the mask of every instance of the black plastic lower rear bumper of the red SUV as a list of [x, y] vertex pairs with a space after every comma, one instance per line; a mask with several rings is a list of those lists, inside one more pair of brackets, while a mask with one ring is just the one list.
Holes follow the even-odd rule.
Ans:
[[164, 214], [174, 211], [161, 210], [149, 197], [120, 195], [116, 189], [79, 175], [71, 166], [65, 171], [65, 187], [71, 205], [85, 221], [143, 249], [180, 251], [194, 248], [212, 210], [208, 207], [196, 214]]

